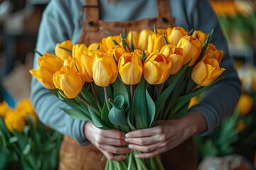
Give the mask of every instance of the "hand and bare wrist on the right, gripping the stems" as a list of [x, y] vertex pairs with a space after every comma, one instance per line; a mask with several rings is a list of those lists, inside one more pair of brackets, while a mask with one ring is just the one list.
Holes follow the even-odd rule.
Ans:
[[150, 158], [173, 149], [206, 128], [203, 115], [195, 112], [179, 120], [159, 120], [153, 128], [128, 132], [125, 141], [130, 149], [142, 152], [136, 157]]

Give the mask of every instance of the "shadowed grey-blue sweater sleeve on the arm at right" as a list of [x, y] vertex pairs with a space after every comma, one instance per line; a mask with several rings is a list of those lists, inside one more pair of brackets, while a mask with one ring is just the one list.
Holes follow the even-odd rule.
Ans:
[[[201, 101], [191, 108], [191, 111], [198, 111], [204, 115], [208, 123], [208, 130], [200, 135], [206, 135], [213, 130], [227, 115], [233, 113], [238, 103], [238, 98], [241, 94], [240, 79], [233, 66], [233, 59], [228, 54], [228, 47], [223, 36], [222, 30], [218, 23], [218, 18], [215, 16], [209, 1], [196, 1], [197, 11], [193, 11], [191, 7], [190, 26], [203, 30], [205, 33], [210, 33], [213, 29], [213, 36], [210, 42], [215, 45], [218, 50], [223, 50], [223, 60], [220, 62], [220, 67], [224, 67], [225, 71], [220, 77], [224, 77], [214, 86], [210, 87]], [[189, 13], [189, 11], [188, 11]]]

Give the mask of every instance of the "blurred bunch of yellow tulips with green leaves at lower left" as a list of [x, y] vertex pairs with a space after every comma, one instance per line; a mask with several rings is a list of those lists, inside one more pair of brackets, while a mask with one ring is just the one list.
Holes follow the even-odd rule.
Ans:
[[29, 99], [0, 103], [0, 169], [57, 169], [62, 135], [46, 128]]

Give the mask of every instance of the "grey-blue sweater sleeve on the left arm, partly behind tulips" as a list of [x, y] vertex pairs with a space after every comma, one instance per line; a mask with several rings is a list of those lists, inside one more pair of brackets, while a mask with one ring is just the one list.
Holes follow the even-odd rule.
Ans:
[[[73, 13], [71, 15], [71, 7], [69, 1], [50, 1], [43, 13], [38, 32], [36, 44], [38, 52], [51, 53], [57, 42], [72, 39], [74, 24], [70, 21], [74, 21], [71, 17], [77, 17], [78, 14]], [[79, 12], [79, 7], [77, 11]], [[38, 57], [38, 55], [34, 57], [33, 69], [38, 68]], [[88, 144], [88, 142], [85, 142], [83, 133], [85, 121], [75, 120], [64, 113], [60, 108], [68, 108], [68, 106], [41, 86], [34, 77], [31, 81], [31, 101], [38, 118], [43, 123], [64, 135], [73, 137], [79, 145]]]

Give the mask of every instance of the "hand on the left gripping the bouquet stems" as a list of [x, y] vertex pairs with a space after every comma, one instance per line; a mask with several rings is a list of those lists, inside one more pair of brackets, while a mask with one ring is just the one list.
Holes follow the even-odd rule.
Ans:
[[118, 130], [102, 130], [97, 128], [90, 122], [85, 123], [85, 137], [92, 142], [97, 149], [107, 157], [114, 161], [125, 159], [125, 154], [131, 152], [131, 149], [122, 147], [128, 145], [124, 141], [124, 132]]

